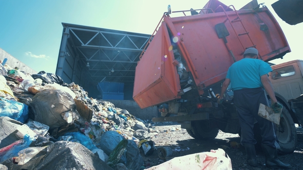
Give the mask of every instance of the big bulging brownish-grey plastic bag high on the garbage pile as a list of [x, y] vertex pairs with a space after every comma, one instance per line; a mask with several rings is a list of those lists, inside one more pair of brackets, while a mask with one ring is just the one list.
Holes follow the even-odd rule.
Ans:
[[50, 130], [81, 119], [73, 98], [62, 90], [46, 89], [37, 93], [30, 102], [30, 108], [33, 114], [30, 118], [48, 125]]

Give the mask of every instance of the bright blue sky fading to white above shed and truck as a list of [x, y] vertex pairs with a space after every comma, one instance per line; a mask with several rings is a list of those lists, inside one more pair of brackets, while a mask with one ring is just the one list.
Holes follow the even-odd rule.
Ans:
[[[303, 23], [283, 22], [272, 9], [277, 0], [263, 0], [285, 33], [291, 53], [281, 63], [303, 59]], [[151, 34], [170, 4], [172, 11], [200, 9], [208, 1], [165, 0], [0, 0], [0, 48], [35, 71], [55, 73], [63, 27], [61, 23]], [[241, 8], [250, 1], [221, 0]]]

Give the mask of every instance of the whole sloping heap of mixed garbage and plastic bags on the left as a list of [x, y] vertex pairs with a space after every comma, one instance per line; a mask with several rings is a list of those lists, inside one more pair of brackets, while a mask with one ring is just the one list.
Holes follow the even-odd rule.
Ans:
[[144, 169], [146, 125], [58, 75], [0, 64], [0, 169]]

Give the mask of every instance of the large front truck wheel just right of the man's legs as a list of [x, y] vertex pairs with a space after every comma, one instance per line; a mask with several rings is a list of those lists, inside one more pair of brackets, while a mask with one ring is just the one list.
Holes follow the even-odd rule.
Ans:
[[276, 135], [279, 140], [280, 149], [279, 154], [290, 154], [293, 153], [297, 146], [297, 133], [295, 123], [284, 107], [282, 110], [282, 115], [280, 119], [280, 125], [276, 125]]

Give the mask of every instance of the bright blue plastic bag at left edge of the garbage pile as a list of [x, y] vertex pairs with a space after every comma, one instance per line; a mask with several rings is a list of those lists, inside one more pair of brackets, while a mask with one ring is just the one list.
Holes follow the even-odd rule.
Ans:
[[28, 105], [0, 97], [0, 116], [8, 116], [25, 123], [28, 119]]

